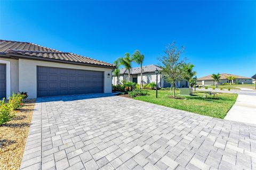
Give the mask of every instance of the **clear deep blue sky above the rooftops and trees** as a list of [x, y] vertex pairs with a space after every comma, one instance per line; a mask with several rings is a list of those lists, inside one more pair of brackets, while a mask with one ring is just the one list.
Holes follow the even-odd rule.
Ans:
[[[112, 63], [184, 45], [197, 77], [256, 73], [256, 1], [0, 1], [0, 38]], [[133, 66], [137, 66], [133, 64]]]

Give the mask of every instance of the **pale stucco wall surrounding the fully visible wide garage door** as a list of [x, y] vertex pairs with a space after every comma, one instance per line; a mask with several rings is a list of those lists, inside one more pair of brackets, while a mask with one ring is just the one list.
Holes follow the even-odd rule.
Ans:
[[[104, 71], [104, 93], [111, 93], [111, 69], [79, 66], [73, 64], [65, 64], [58, 62], [46, 62], [37, 60], [19, 59], [19, 91], [28, 92], [29, 98], [37, 97], [37, 81], [36, 81], [36, 67], [58, 67], [82, 70]], [[110, 76], [108, 76], [110, 74]]]

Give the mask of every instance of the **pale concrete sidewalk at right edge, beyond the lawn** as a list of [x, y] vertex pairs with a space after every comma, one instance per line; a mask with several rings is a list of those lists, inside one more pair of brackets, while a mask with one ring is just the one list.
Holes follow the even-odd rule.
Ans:
[[249, 88], [241, 88], [236, 103], [224, 119], [256, 124], [256, 92]]

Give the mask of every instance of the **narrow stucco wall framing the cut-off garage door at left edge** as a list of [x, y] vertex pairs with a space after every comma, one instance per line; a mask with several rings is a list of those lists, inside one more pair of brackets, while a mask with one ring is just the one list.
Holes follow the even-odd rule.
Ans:
[[6, 59], [6, 58], [0, 58], [0, 60], [10, 61], [11, 94], [17, 93], [19, 91], [19, 60]]

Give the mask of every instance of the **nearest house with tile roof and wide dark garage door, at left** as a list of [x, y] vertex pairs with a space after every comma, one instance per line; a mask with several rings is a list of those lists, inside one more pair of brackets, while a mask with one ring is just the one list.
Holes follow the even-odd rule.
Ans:
[[0, 40], [0, 98], [111, 93], [113, 64], [33, 43]]

